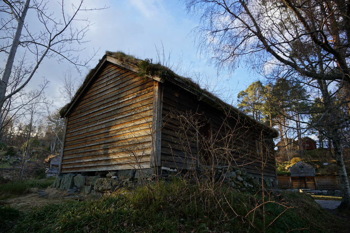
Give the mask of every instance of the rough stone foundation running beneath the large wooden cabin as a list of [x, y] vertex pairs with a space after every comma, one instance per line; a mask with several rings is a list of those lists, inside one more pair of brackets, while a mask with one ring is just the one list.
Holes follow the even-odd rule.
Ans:
[[[264, 186], [272, 187], [277, 185], [276, 180], [255, 178], [252, 175], [247, 174], [244, 168], [221, 166], [216, 167], [214, 171], [205, 172], [195, 171], [195, 174], [190, 172], [194, 171], [178, 171], [177, 169], [161, 167], [158, 171], [158, 179], [163, 179], [166, 182], [170, 182], [172, 177], [179, 177], [189, 179], [191, 182], [198, 180], [214, 179], [217, 183], [228, 185], [239, 191], [257, 191], [261, 184]], [[214, 173], [214, 174], [213, 174]], [[154, 169], [141, 169], [141, 170], [119, 170], [119, 171], [98, 171], [98, 172], [81, 172], [81, 173], [67, 173], [58, 174], [53, 188], [59, 188], [61, 190], [68, 190], [71, 193], [84, 192], [96, 197], [102, 195], [110, 195], [116, 189], [119, 188], [135, 188], [137, 185], [144, 185], [147, 183], [155, 182], [156, 175]]]

